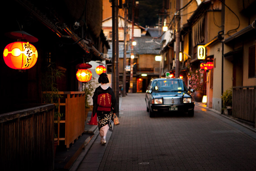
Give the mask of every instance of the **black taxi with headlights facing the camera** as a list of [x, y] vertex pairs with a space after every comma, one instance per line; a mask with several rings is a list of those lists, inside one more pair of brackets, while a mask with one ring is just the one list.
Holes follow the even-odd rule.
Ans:
[[194, 101], [186, 84], [180, 78], [151, 79], [146, 91], [146, 105], [150, 117], [155, 117], [158, 112], [188, 112], [194, 116]]

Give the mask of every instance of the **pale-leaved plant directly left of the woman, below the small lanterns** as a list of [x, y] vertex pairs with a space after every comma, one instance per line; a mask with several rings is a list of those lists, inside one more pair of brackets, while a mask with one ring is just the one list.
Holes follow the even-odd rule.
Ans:
[[83, 91], [85, 92], [85, 121], [87, 119], [88, 112], [92, 110], [92, 97], [98, 86], [99, 83], [94, 77], [90, 81], [83, 83]]

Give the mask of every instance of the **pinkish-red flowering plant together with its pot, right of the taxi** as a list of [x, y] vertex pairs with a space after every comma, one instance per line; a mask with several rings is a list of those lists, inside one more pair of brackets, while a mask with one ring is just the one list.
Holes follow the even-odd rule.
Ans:
[[196, 102], [202, 102], [203, 97], [203, 69], [192, 70], [189, 67], [189, 89], [194, 89], [193, 98]]

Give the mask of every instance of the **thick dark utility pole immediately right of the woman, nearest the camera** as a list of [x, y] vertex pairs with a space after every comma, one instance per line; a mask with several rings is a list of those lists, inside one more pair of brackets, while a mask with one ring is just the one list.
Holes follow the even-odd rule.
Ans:
[[119, 37], [118, 0], [112, 0], [112, 88], [116, 96], [116, 115], [119, 117]]

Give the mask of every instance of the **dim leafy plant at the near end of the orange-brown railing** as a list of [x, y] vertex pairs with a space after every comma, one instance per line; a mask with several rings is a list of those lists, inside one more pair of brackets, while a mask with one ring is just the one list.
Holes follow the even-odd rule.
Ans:
[[63, 113], [58, 111], [59, 103], [58, 99], [62, 96], [58, 94], [59, 90], [57, 89], [56, 80], [60, 79], [63, 76], [63, 73], [56, 69], [54, 63], [50, 63], [42, 73], [42, 98], [44, 103], [55, 104], [54, 120], [58, 120], [58, 117], [62, 117]]

